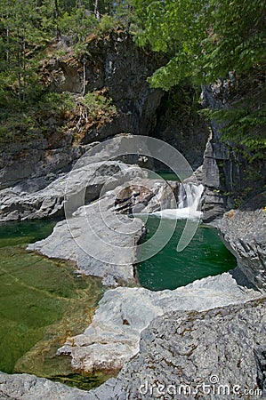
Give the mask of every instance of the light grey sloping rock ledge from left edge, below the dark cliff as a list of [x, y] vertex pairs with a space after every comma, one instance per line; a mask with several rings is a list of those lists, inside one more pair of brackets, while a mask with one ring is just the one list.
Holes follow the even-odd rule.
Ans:
[[[4, 188], [0, 191], [0, 220], [63, 217], [64, 196], [67, 189], [68, 196], [77, 197], [85, 190], [86, 204], [99, 197], [101, 188], [107, 180], [109, 188], [116, 188], [119, 172], [126, 177], [129, 171], [130, 179], [133, 177], [133, 170], [129, 170], [124, 163], [117, 161], [93, 163], [93, 159], [90, 159], [88, 164], [71, 173], [62, 173], [57, 180], [53, 180], [41, 190], [33, 191], [31, 181], [28, 184], [25, 181], [20, 182], [13, 188]], [[143, 176], [140, 169], [138, 172]]]

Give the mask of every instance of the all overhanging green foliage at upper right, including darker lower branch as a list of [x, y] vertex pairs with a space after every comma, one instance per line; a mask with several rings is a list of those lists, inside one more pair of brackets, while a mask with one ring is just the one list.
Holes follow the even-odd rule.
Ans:
[[168, 91], [184, 81], [214, 83], [234, 71], [246, 83], [241, 99], [231, 99], [230, 109], [207, 114], [223, 123], [224, 140], [241, 148], [250, 160], [262, 157], [266, 148], [265, 2], [135, 0], [135, 6], [141, 20], [137, 42], [149, 43], [169, 57], [149, 83]]

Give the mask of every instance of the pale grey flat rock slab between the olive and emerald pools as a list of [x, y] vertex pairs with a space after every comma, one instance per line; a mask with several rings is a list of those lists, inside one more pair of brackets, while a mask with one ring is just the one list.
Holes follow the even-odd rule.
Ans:
[[69, 220], [58, 222], [52, 235], [29, 244], [28, 250], [50, 258], [74, 260], [79, 271], [102, 277], [103, 284], [135, 282], [133, 263], [144, 224], [139, 219], [115, 214], [110, 206], [105, 197], [80, 208]]

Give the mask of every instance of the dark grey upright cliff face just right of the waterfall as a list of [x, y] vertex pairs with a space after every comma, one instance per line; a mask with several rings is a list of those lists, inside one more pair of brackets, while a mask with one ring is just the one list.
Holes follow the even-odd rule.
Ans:
[[[230, 80], [204, 87], [203, 106], [210, 109], [230, 108], [230, 104], [238, 100], [243, 91], [246, 93], [245, 88], [241, 89], [241, 84], [231, 76]], [[251, 163], [240, 156], [240, 152], [236, 154], [233, 143], [222, 142], [221, 128], [222, 124], [214, 120], [211, 122], [212, 133], [204, 154], [202, 179], [206, 187], [203, 205], [205, 222], [221, 218], [223, 212], [235, 206], [236, 201], [245, 194], [260, 193], [265, 185], [264, 159]]]

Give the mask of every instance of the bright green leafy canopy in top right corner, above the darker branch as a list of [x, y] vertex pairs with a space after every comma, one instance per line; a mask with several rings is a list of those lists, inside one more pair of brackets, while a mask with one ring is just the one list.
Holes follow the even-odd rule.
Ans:
[[[184, 78], [211, 83], [229, 71], [248, 73], [265, 60], [265, 2], [135, 0], [138, 42], [166, 52], [169, 63], [151, 83], [168, 90]], [[171, 84], [172, 81], [172, 84]]]

